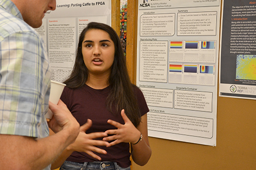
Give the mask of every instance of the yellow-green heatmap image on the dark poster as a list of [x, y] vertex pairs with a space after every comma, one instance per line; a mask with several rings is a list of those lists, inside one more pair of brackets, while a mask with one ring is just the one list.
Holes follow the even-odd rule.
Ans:
[[237, 55], [236, 79], [256, 80], [256, 55]]

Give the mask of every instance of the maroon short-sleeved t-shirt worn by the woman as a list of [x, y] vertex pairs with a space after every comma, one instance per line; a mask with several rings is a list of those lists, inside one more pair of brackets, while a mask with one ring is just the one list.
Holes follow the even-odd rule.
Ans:
[[[140, 89], [136, 86], [134, 88], [142, 116], [149, 110]], [[115, 107], [112, 108], [113, 113], [108, 111], [105, 107], [105, 101], [109, 92], [109, 87], [104, 89], [93, 89], [84, 84], [82, 87], [77, 89], [65, 87], [60, 99], [67, 105], [80, 126], [85, 124], [88, 118], [92, 120], [93, 125], [86, 133], [105, 132], [109, 129], [117, 129], [107, 123], [109, 119], [124, 124], [121, 114], [117, 113]], [[119, 143], [109, 148], [98, 146], [98, 148], [101, 148], [108, 153], [106, 155], [95, 153], [101, 157], [102, 161], [117, 162], [121, 167], [128, 167], [131, 165], [129, 143]], [[72, 162], [98, 161], [83, 152], [73, 152], [67, 160]]]

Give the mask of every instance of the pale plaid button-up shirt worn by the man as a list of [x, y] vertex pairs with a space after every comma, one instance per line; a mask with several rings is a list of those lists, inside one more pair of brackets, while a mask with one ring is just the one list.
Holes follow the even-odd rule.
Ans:
[[0, 1], [0, 57], [0, 134], [48, 136], [46, 47], [10, 0]]

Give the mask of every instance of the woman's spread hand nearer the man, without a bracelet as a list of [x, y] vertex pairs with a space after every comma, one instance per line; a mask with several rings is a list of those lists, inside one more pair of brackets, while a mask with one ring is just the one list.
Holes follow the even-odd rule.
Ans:
[[96, 138], [102, 138], [108, 136], [108, 134], [104, 132], [94, 132], [87, 134], [86, 131], [92, 126], [92, 120], [88, 119], [87, 123], [80, 126], [80, 132], [74, 143], [70, 144], [67, 150], [77, 151], [77, 152], [85, 152], [88, 155], [101, 160], [101, 158], [94, 154], [93, 152], [97, 152], [100, 154], [106, 154], [105, 150], [97, 148], [95, 146], [106, 146], [109, 144], [107, 141], [103, 140], [94, 140]]

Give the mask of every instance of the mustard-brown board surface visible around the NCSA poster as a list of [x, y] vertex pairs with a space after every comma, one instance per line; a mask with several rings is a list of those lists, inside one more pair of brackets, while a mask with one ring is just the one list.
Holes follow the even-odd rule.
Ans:
[[[129, 32], [137, 32], [137, 12], [138, 1], [129, 0], [127, 3], [127, 49], [129, 49], [127, 65], [134, 83], [136, 82], [137, 36]], [[149, 137], [152, 149], [151, 159], [144, 166], [133, 162], [132, 169], [256, 169], [255, 101], [218, 96], [217, 106], [216, 147]]]

